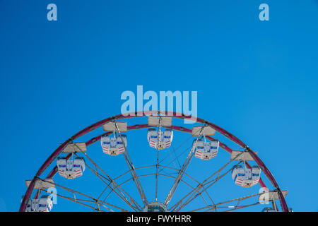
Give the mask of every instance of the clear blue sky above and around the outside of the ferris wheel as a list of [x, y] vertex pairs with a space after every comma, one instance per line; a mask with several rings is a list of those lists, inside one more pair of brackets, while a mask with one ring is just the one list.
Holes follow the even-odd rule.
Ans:
[[0, 0], [0, 211], [18, 210], [25, 179], [136, 85], [198, 91], [199, 117], [257, 151], [295, 211], [317, 211], [317, 25], [314, 0]]

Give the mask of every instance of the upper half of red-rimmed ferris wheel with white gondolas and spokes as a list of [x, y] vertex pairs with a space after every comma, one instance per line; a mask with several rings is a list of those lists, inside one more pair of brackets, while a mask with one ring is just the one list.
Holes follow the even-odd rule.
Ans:
[[25, 184], [20, 211], [290, 211], [288, 191], [258, 153], [177, 112], [98, 121], [61, 143]]

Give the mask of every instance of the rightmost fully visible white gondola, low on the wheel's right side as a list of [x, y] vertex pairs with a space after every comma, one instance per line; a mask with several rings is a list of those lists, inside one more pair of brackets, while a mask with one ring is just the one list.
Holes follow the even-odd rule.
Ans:
[[235, 184], [244, 187], [251, 187], [259, 183], [260, 174], [261, 169], [257, 165], [254, 165], [252, 169], [242, 167], [241, 165], [237, 165], [232, 169], [232, 179]]

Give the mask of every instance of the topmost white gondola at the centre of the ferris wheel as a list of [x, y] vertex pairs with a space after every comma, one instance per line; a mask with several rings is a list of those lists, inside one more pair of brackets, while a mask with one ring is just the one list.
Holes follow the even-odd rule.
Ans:
[[156, 129], [148, 129], [147, 138], [151, 147], [162, 150], [170, 147], [173, 139], [173, 131], [172, 129], [165, 129], [165, 131], [161, 131], [159, 134]]

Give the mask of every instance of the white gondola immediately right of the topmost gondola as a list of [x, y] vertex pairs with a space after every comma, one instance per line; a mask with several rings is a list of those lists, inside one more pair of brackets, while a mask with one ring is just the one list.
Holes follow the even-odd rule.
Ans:
[[218, 154], [218, 147], [218, 141], [197, 141], [194, 146], [194, 156], [201, 160], [211, 160], [211, 158], [216, 157]]

